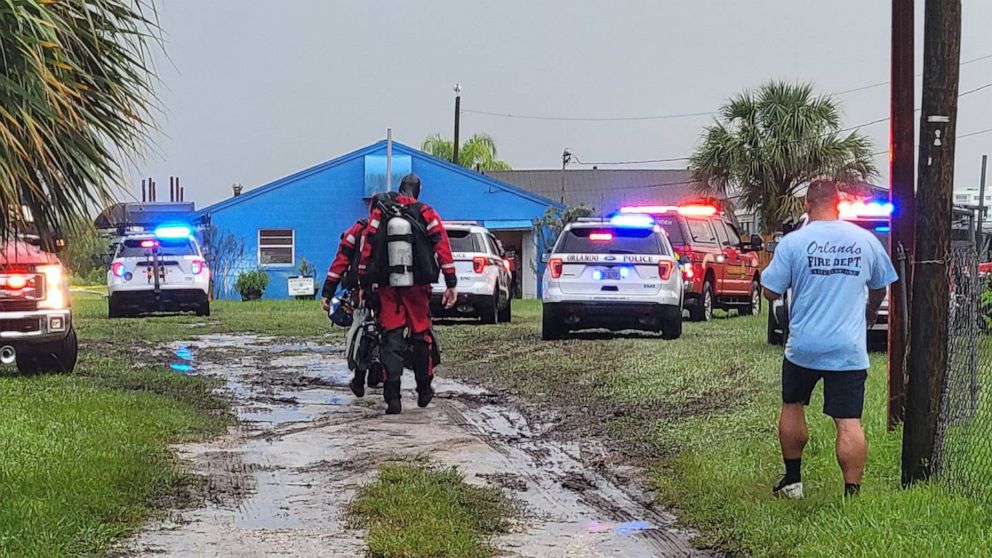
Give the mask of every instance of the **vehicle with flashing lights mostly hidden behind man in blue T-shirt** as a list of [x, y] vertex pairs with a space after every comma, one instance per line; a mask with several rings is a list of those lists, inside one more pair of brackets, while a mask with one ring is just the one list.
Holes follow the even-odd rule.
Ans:
[[[889, 246], [889, 231], [891, 230], [890, 218], [893, 206], [887, 201], [842, 201], [838, 204], [840, 218], [854, 223], [863, 229], [871, 231], [882, 246]], [[784, 234], [799, 230], [808, 223], [808, 217], [803, 215], [799, 222], [790, 227]], [[776, 235], [777, 240], [781, 235]], [[769, 244], [768, 250], [775, 251], [778, 242]], [[772, 345], [785, 345], [789, 339], [789, 298], [791, 289], [785, 296], [778, 298], [771, 304], [771, 311], [768, 312], [767, 341]], [[889, 332], [889, 295], [886, 293], [878, 309], [878, 317], [875, 323], [868, 328], [869, 344], [878, 345], [888, 339]]]

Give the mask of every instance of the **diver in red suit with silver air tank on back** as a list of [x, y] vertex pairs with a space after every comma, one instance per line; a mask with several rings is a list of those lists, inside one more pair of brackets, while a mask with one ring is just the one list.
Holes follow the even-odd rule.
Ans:
[[358, 264], [362, 284], [377, 286], [387, 415], [402, 412], [400, 378], [408, 351], [417, 381], [417, 406], [426, 407], [434, 397], [431, 382], [439, 353], [431, 327], [430, 297], [439, 272], [445, 284], [442, 304], [451, 308], [458, 298], [448, 233], [437, 212], [418, 201], [420, 190], [420, 177], [411, 173], [403, 177], [399, 192], [378, 197], [364, 231]]

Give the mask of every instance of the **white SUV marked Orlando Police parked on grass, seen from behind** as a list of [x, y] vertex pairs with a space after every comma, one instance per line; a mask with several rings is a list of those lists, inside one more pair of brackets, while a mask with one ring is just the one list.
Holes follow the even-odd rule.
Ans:
[[591, 328], [682, 335], [682, 274], [668, 236], [648, 215], [566, 225], [543, 287], [544, 340]]

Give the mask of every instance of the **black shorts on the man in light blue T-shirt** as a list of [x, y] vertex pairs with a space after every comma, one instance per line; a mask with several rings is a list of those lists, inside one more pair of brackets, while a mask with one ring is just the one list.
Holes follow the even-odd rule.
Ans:
[[833, 418], [861, 418], [865, 407], [867, 370], [827, 372], [803, 368], [782, 360], [782, 402], [809, 405], [817, 382], [823, 379], [823, 413]]

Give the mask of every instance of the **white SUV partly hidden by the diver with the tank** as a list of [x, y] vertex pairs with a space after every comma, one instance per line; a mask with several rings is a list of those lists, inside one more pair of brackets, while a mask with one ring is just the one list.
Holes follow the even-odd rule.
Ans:
[[445, 222], [458, 275], [458, 301], [451, 309], [441, 304], [444, 282], [434, 283], [431, 315], [475, 317], [482, 323], [509, 322], [513, 293], [510, 265], [500, 243], [485, 227], [471, 222]]

